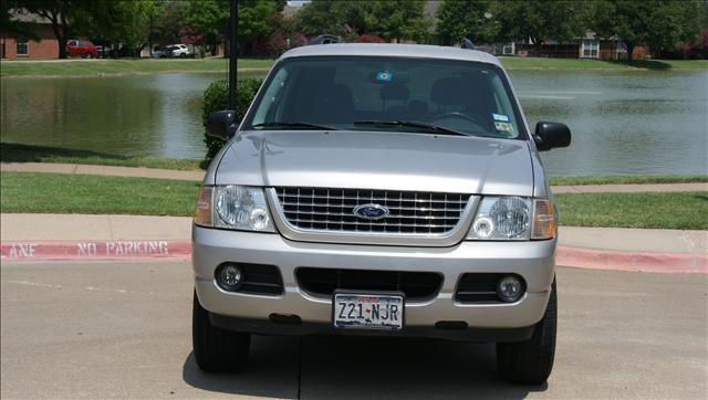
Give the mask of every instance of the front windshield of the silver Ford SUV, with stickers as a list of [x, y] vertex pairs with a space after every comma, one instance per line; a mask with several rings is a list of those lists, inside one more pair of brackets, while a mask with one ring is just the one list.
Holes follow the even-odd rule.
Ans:
[[247, 129], [312, 126], [523, 138], [501, 71], [435, 59], [321, 56], [275, 66]]

